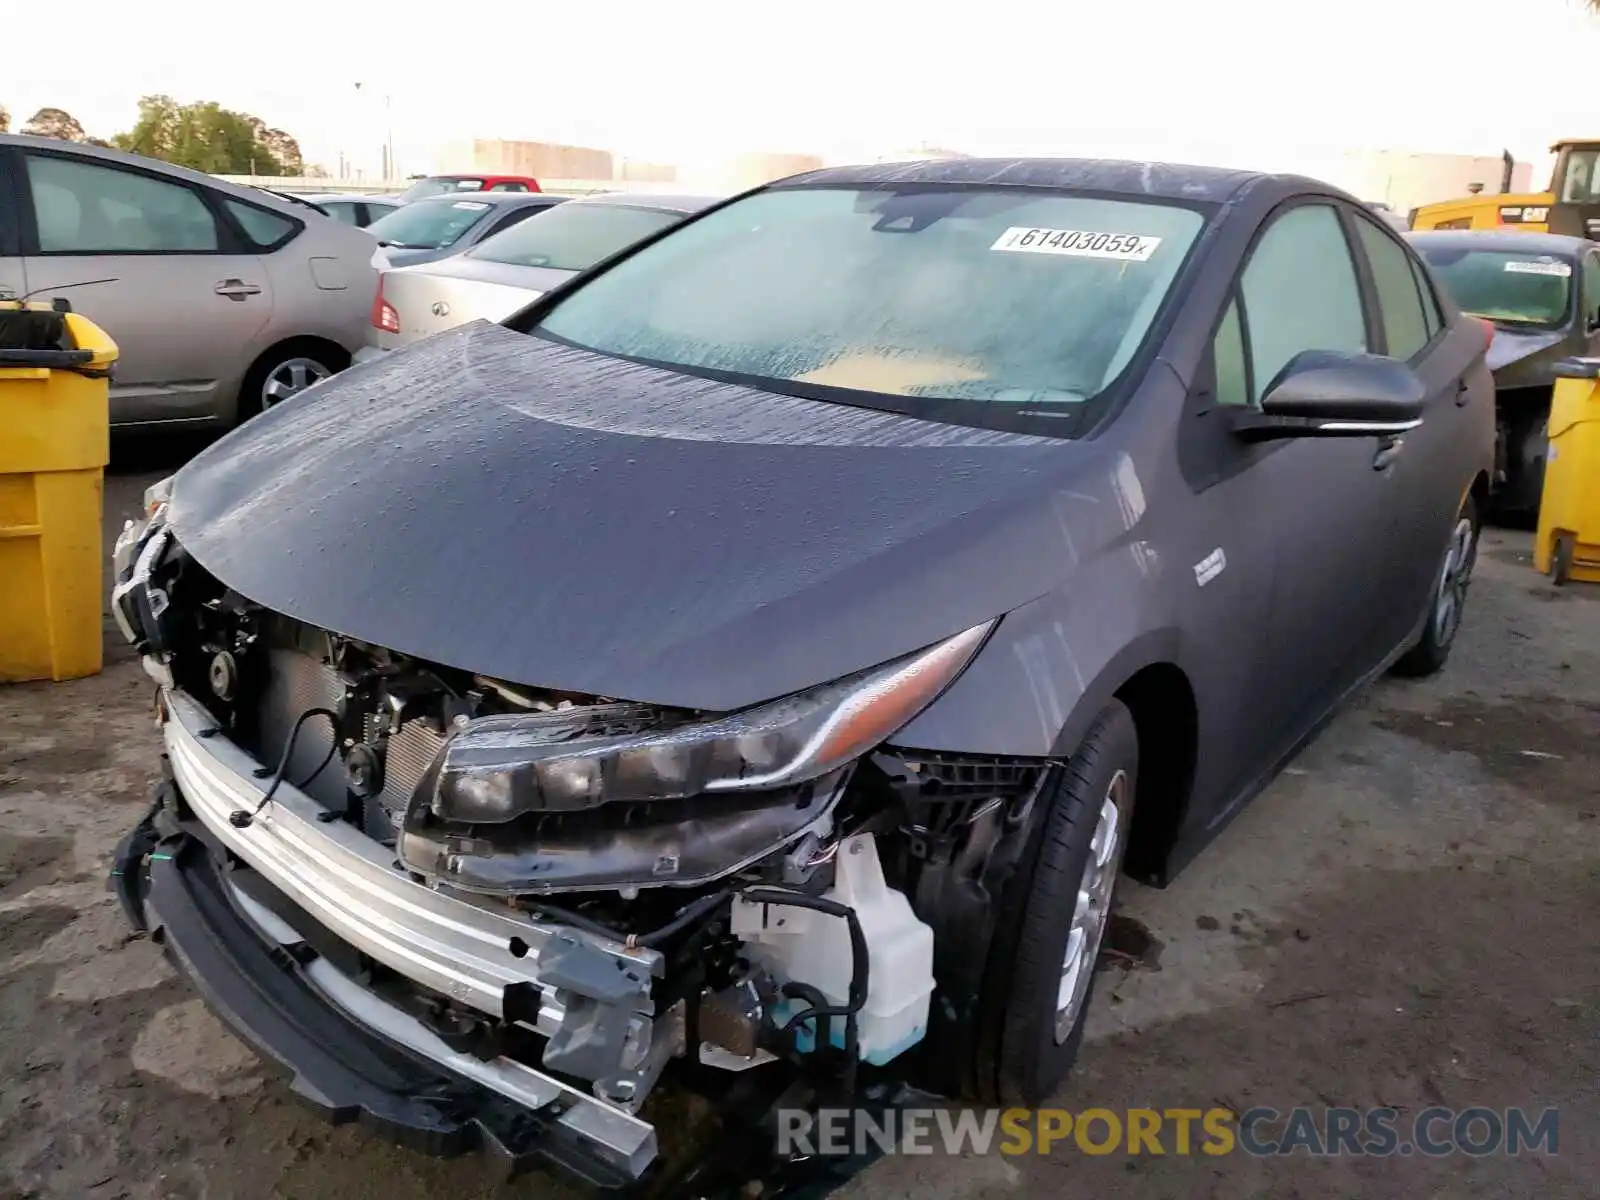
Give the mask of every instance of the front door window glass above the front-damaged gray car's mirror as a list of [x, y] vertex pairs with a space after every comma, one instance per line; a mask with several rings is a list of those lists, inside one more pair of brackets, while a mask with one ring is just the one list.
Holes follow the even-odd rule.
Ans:
[[1240, 277], [1240, 296], [1251, 403], [1301, 350], [1368, 349], [1355, 262], [1330, 205], [1299, 205], [1267, 227]]

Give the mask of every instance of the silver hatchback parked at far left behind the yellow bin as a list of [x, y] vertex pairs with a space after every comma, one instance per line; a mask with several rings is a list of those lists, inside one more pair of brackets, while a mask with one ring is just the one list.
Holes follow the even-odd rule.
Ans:
[[0, 298], [70, 301], [120, 350], [115, 426], [227, 427], [350, 362], [373, 240], [118, 150], [0, 134]]

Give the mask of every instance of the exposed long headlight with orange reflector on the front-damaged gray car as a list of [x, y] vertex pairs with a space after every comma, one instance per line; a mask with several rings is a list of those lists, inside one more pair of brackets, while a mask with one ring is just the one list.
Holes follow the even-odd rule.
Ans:
[[[883, 742], [962, 674], [994, 621], [835, 683], [709, 722], [571, 739], [563, 714], [480, 717], [419, 797], [446, 821], [501, 822], [627, 800], [816, 779]], [[578, 710], [581, 714], [581, 710]], [[429, 784], [424, 782], [424, 789]]]

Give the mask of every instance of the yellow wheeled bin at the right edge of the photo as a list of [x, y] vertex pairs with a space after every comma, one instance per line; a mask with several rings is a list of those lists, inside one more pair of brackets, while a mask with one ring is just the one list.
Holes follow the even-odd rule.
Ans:
[[1533, 565], [1557, 584], [1600, 582], [1600, 358], [1557, 365]]

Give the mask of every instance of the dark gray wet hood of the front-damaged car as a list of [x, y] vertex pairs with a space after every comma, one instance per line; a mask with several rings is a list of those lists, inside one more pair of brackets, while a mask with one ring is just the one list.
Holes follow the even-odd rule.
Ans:
[[936, 424], [474, 322], [267, 410], [170, 522], [267, 608], [445, 666], [694, 709], [1059, 584], [1093, 443]]

